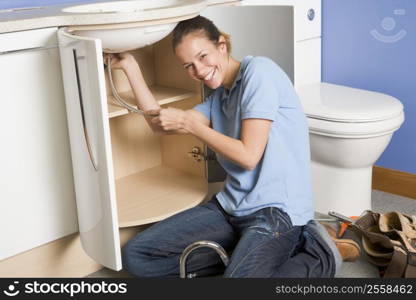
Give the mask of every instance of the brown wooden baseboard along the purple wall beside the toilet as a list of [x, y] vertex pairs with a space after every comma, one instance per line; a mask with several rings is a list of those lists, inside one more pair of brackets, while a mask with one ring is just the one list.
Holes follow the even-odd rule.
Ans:
[[416, 174], [374, 166], [373, 189], [416, 199]]

